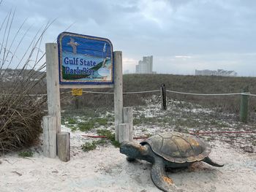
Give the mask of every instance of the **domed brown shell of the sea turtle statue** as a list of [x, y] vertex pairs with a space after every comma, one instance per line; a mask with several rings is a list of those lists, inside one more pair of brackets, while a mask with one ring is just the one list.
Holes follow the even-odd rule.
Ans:
[[150, 145], [157, 155], [174, 163], [202, 161], [211, 152], [208, 144], [190, 134], [168, 132], [157, 134], [140, 142]]

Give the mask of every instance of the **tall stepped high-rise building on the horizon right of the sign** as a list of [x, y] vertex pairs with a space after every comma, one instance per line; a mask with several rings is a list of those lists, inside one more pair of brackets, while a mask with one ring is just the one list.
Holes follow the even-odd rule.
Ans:
[[143, 57], [143, 61], [139, 61], [136, 65], [136, 73], [139, 74], [152, 74], [153, 69], [153, 56]]

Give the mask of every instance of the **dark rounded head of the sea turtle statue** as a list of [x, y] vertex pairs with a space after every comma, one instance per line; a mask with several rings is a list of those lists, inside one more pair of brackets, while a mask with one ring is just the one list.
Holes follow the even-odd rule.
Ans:
[[135, 142], [122, 142], [120, 146], [120, 153], [127, 155], [129, 158], [143, 159], [146, 155], [146, 147], [139, 145]]

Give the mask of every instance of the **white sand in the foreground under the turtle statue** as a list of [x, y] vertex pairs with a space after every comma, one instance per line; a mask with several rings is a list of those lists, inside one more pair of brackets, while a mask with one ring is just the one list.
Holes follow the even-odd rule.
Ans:
[[[239, 153], [215, 141], [211, 158], [222, 168], [197, 163], [169, 172], [178, 188], [186, 191], [256, 191], [256, 155]], [[0, 157], [0, 191], [159, 191], [151, 182], [151, 164], [128, 163], [113, 146], [89, 153], [72, 147], [71, 161], [45, 158], [42, 151], [32, 158], [17, 153]]]

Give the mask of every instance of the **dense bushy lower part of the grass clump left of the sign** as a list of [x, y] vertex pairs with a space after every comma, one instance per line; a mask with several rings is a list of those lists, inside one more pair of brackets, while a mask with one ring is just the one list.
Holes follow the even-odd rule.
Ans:
[[28, 96], [0, 98], [0, 152], [32, 145], [42, 132], [42, 104], [45, 99]]

